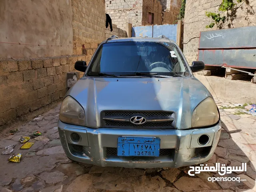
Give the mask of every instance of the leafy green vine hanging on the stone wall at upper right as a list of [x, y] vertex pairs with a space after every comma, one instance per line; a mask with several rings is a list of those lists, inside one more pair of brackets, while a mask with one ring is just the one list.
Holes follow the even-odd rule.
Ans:
[[[237, 3], [241, 3], [243, 0], [237, 0]], [[229, 10], [233, 10], [236, 6], [236, 3], [233, 2], [233, 0], [222, 0], [222, 3], [219, 7], [219, 12], [206, 12], [206, 16], [208, 18], [212, 18], [212, 20], [215, 21], [216, 24], [220, 24], [220, 22], [224, 23], [226, 20], [226, 16], [221, 17], [220, 13], [226, 12]], [[215, 23], [210, 23], [209, 25], [206, 25], [206, 28], [213, 28], [215, 26]]]

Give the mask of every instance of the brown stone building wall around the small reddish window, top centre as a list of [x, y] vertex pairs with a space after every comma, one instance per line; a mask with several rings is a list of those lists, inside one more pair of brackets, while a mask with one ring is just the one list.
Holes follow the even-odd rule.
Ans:
[[[152, 10], [151, 10], [151, 2], [152, 2]], [[162, 5], [158, 0], [143, 0], [142, 4], [142, 25], [151, 25], [148, 23], [148, 13], [154, 13], [154, 25], [162, 24]]]

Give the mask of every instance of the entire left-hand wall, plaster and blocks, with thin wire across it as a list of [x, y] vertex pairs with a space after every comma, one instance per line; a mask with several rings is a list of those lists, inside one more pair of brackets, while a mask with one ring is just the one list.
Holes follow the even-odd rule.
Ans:
[[74, 63], [88, 63], [106, 38], [106, 14], [104, 0], [3, 0], [0, 10], [1, 41], [69, 45], [1, 44], [1, 128], [39, 115], [63, 98]]

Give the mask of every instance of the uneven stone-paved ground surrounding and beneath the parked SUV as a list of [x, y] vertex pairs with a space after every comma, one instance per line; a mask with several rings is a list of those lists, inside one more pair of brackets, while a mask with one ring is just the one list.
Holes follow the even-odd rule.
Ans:
[[[178, 169], [129, 169], [97, 167], [69, 160], [60, 144], [57, 130], [58, 109], [42, 114], [22, 126], [14, 135], [2, 133], [1, 152], [5, 146], [16, 144], [14, 154], [21, 153], [20, 163], [8, 162], [10, 155], [0, 155], [0, 191], [22, 192], [253, 192], [256, 191], [256, 116], [244, 114], [242, 107], [216, 99], [222, 117], [222, 134], [214, 156], [208, 165], [216, 162], [240, 166], [247, 162], [247, 172], [225, 176], [240, 176], [246, 182], [209, 182], [213, 172], [187, 174], [188, 167]], [[30, 139], [35, 144], [28, 150], [19, 149], [20, 136], [39, 130], [42, 136]]]

